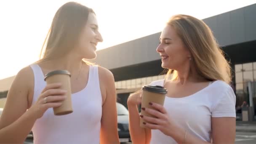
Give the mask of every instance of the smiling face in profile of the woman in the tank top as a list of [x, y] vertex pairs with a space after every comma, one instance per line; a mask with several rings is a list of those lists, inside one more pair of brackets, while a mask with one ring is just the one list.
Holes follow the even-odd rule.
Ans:
[[94, 59], [96, 57], [96, 45], [102, 41], [96, 16], [94, 13], [90, 13], [78, 41], [77, 54], [85, 59]]

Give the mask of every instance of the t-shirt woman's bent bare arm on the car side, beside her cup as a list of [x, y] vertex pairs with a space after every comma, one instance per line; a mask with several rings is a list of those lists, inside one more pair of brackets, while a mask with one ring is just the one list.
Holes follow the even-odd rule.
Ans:
[[137, 104], [141, 103], [141, 91], [132, 93], [127, 101], [129, 110], [129, 129], [133, 144], [149, 144], [151, 130], [140, 127], [140, 116]]

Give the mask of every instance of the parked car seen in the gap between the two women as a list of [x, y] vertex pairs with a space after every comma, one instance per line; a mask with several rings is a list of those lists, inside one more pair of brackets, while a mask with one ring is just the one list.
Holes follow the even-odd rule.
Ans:
[[123, 104], [117, 102], [117, 130], [120, 142], [131, 141], [129, 132], [129, 112]]

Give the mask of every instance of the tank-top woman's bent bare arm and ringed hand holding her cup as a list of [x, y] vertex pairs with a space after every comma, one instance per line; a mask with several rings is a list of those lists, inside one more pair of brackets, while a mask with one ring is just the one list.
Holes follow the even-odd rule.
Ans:
[[[34, 88], [32, 69], [26, 67], [17, 75], [8, 92], [7, 101], [0, 117], [0, 143], [23, 143], [31, 131], [35, 120], [41, 117], [49, 107], [58, 107], [62, 96], [49, 96], [64, 94], [57, 90], [61, 85], [48, 85], [43, 90], [40, 98], [31, 108], [28, 108], [28, 96], [32, 93], [29, 88]], [[54, 90], [52, 89], [54, 88]], [[43, 103], [43, 98], [48, 96], [49, 103]]]

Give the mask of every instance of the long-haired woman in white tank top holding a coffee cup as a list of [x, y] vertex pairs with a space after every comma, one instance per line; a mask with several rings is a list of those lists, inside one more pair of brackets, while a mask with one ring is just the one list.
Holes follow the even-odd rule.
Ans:
[[[47, 11], [47, 8], [45, 8]], [[31, 131], [34, 144], [117, 144], [117, 109], [112, 73], [83, 59], [96, 57], [102, 42], [96, 14], [75, 2], [56, 12], [45, 39], [43, 58], [16, 75], [0, 117], [0, 143], [23, 143]], [[29, 43], [29, 40], [28, 40]], [[73, 112], [56, 116], [66, 91], [46, 85], [44, 75], [71, 73]]]

